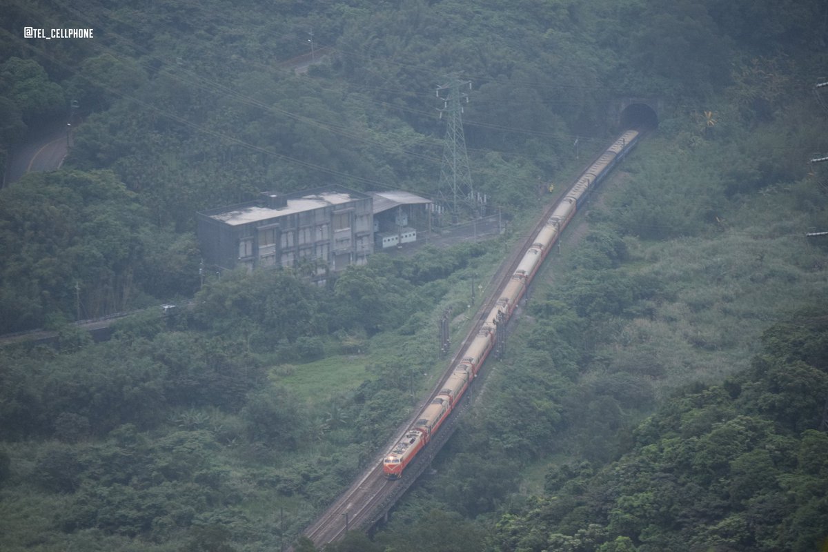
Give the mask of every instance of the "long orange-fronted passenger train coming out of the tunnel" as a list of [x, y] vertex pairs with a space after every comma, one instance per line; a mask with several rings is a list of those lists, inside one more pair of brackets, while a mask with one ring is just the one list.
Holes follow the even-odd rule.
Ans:
[[579, 176], [575, 185], [572, 185], [561, 198], [546, 223], [532, 240], [532, 245], [518, 262], [517, 268], [503, 288], [500, 297], [486, 315], [478, 333], [463, 351], [460, 360], [452, 368], [440, 392], [421, 410], [416, 421], [406, 430], [402, 439], [394, 444], [388, 454], [383, 457], [383, 474], [386, 478], [402, 478], [405, 468], [429, 444], [452, 410], [460, 404], [460, 399], [477, 377], [480, 367], [492, 351], [498, 331], [503, 331], [505, 324], [512, 317], [518, 301], [526, 293], [527, 286], [532, 282], [532, 278], [537, 274], [552, 246], [560, 238], [566, 224], [581, 208], [595, 186], [636, 145], [639, 137], [641, 133], [634, 129], [623, 132]]

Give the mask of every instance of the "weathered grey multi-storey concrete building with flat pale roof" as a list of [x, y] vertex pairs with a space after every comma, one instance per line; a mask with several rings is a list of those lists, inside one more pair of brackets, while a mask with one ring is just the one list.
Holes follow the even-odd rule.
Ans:
[[373, 200], [331, 185], [294, 194], [263, 192], [258, 201], [197, 214], [205, 262], [220, 268], [362, 265], [373, 252]]

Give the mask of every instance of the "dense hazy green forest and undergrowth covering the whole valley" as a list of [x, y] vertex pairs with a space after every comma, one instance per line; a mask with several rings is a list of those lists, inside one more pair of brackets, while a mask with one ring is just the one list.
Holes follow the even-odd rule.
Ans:
[[[81, 120], [61, 170], [0, 189], [0, 331], [59, 334], [0, 349], [2, 550], [296, 542], [445, 369], [436, 320], [467, 329], [469, 282], [538, 183], [574, 175], [630, 97], [663, 106], [657, 132], [551, 255], [431, 474], [329, 548], [824, 549], [823, 2], [82, 4], [0, 0], [0, 169], [73, 102]], [[436, 194], [453, 74], [512, 233], [326, 287], [201, 281], [200, 209], [330, 182]], [[70, 324], [123, 310], [104, 343]]]

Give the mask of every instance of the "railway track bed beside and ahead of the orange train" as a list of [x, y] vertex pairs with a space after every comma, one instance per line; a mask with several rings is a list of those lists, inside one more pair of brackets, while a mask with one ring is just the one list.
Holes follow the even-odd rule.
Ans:
[[[602, 151], [597, 154], [592, 160], [590, 160], [590, 163], [587, 164], [586, 167], [592, 166], [592, 164], [595, 163], [595, 161], [603, 153], [604, 152]], [[573, 179], [573, 184], [578, 178], [580, 178], [580, 174]], [[568, 188], [569, 187], [567, 187], [567, 189]], [[427, 397], [427, 400], [423, 401], [421, 405], [430, 403], [431, 400], [440, 392], [445, 380], [450, 377], [453, 367], [461, 360], [461, 355], [466, 350], [474, 336], [477, 335], [480, 327], [484, 324], [484, 317], [493, 309], [494, 304], [503, 292], [503, 288], [508, 284], [508, 281], [514, 271], [517, 270], [517, 265], [520, 263], [523, 255], [527, 252], [527, 249], [532, 246], [534, 238], [544, 226], [546, 220], [551, 216], [557, 204], [558, 200], [556, 199], [556, 201], [553, 201], [551, 204], [546, 206], [542, 216], [538, 218], [537, 223], [535, 223], [526, 236], [522, 238], [520, 246], [513, 247], [512, 252], [508, 255], [508, 257], [500, 263], [498, 270], [495, 271], [489, 281], [489, 286], [487, 286], [487, 289], [493, 290], [493, 292], [489, 293], [486, 300], [480, 304], [478, 310], [474, 314], [476, 322], [465, 335], [463, 342], [460, 343], [460, 347], [455, 348], [456, 352], [454, 357], [447, 363], [443, 376], [440, 377], [440, 381], [431, 390], [431, 394]], [[479, 377], [476, 377], [472, 383], [472, 391], [474, 391], [474, 387], [479, 385], [479, 381], [484, 379], [486, 372], [487, 367], [484, 364]], [[428, 465], [431, 463], [432, 458], [434, 458], [437, 452], [440, 451], [440, 448], [450, 438], [451, 434], [454, 433], [460, 412], [465, 411], [469, 407], [469, 403], [473, 396], [474, 392], [467, 393], [467, 396], [462, 401], [463, 405], [456, 408], [455, 411], [451, 413], [449, 419], [445, 421], [440, 432], [436, 434], [435, 438], [431, 440], [431, 443], [426, 446], [426, 449], [418, 455], [418, 458], [416, 458], [416, 460], [414, 460], [412, 464], [406, 468], [405, 477], [389, 481], [383, 477], [383, 456], [393, 444], [402, 439], [402, 436], [411, 427], [414, 420], [416, 420], [416, 416], [420, 413], [420, 407], [415, 408], [412, 414], [412, 419], [407, 420], [405, 424], [401, 425], [392, 438], [388, 439], [388, 444], [380, 449], [380, 452], [375, 458], [372, 458], [371, 467], [361, 473], [359, 478], [354, 480], [351, 487], [340, 495], [339, 498], [337, 498], [337, 500], [305, 530], [305, 535], [313, 541], [316, 547], [321, 547], [330, 542], [334, 542], [335, 540], [339, 540], [349, 530], [367, 530], [376, 524], [387, 514], [388, 509], [394, 502], [397, 501], [399, 497], [402, 496], [404, 492], [406, 492], [408, 487], [411, 487], [413, 482], [416, 481], [416, 478], [418, 478], [421, 473], [426, 470]]]

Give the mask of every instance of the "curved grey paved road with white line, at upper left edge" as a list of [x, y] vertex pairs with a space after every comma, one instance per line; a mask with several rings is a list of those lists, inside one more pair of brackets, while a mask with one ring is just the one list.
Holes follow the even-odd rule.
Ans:
[[15, 147], [9, 156], [3, 185], [20, 180], [27, 172], [40, 172], [60, 168], [69, 151], [70, 139], [65, 119], [46, 126]]

